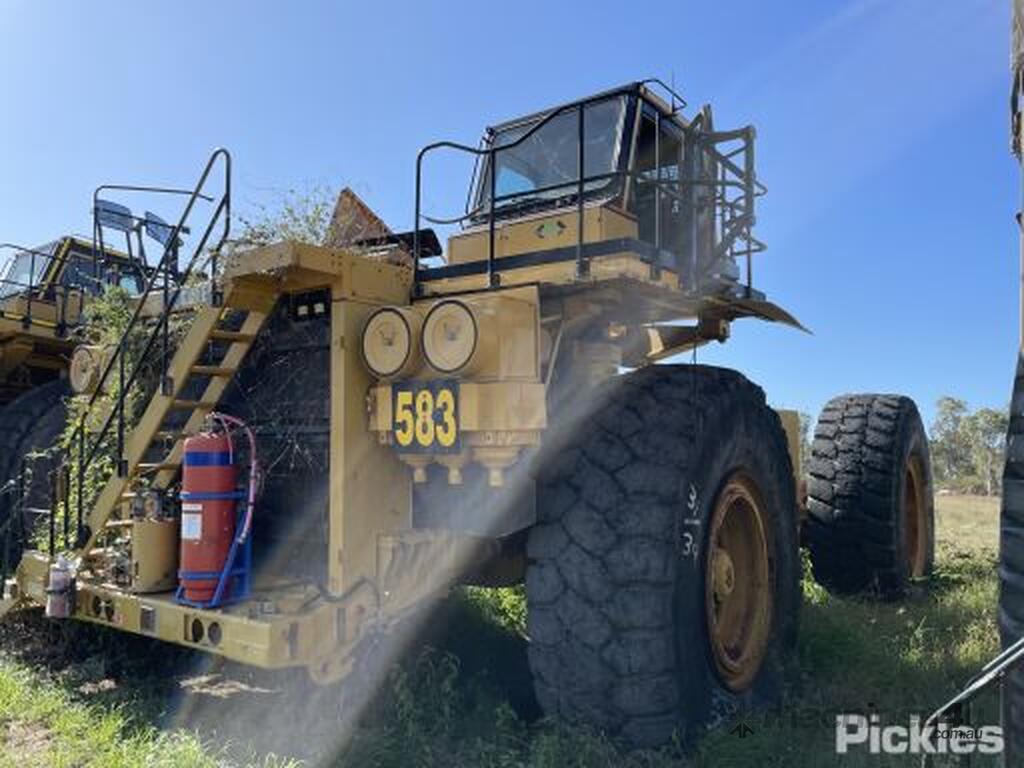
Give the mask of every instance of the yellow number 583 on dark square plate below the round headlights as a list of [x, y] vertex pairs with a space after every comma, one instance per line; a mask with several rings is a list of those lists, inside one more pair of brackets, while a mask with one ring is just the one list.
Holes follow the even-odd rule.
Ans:
[[459, 450], [459, 382], [407, 381], [392, 386], [394, 441], [406, 451]]

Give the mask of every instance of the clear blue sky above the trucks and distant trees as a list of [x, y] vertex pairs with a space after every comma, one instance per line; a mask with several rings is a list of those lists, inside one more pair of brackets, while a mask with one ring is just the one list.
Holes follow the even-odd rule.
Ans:
[[[905, 391], [928, 418], [944, 393], [1002, 404], [1009, 6], [0, 0], [0, 240], [88, 231], [97, 183], [190, 183], [217, 145], [242, 205], [350, 184], [406, 228], [420, 145], [674, 77], [720, 127], [758, 126], [757, 282], [815, 332], [738, 323], [701, 359], [812, 413], [852, 390]], [[432, 170], [443, 213], [464, 169]]]

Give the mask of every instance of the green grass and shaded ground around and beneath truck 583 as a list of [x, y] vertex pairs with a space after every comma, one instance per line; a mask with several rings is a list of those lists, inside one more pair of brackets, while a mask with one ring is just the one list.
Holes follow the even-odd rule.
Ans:
[[[796, 672], [782, 702], [737, 713], [695, 750], [624, 753], [600, 734], [538, 720], [521, 590], [471, 589], [434, 617], [427, 645], [415, 646], [344, 734], [336, 689], [239, 668], [217, 672], [189, 651], [92, 627], [53, 628], [32, 614], [8, 621], [0, 628], [0, 767], [261, 765], [276, 762], [267, 757], [274, 754], [339, 768], [834, 766], [837, 713], [873, 710], [906, 724], [997, 651], [997, 505], [938, 502], [931, 588], [879, 604], [829, 597], [805, 579]], [[997, 722], [994, 696], [975, 720]], [[753, 735], [730, 734], [740, 721]], [[864, 754], [841, 763], [916, 764]]]

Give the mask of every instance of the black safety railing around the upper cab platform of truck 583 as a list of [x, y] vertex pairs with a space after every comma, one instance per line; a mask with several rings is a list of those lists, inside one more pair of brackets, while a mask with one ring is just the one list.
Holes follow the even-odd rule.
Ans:
[[[681, 105], [685, 105], [678, 94], [660, 81], [644, 81], [644, 83], [657, 84], [671, 94], [671, 111], [675, 115]], [[459, 224], [459, 223], [480, 223], [485, 222], [487, 227], [487, 257], [484, 271], [486, 283], [490, 288], [500, 285], [500, 272], [505, 268], [513, 268], [509, 265], [518, 264], [515, 260], [496, 258], [497, 228], [500, 218], [507, 218], [515, 212], [513, 201], [529, 197], [534, 200], [546, 195], [565, 190], [565, 198], [574, 201], [577, 216], [577, 243], [572, 257], [575, 260], [578, 278], [586, 278], [590, 272], [590, 256], [587, 253], [585, 242], [585, 212], [588, 202], [588, 195], [601, 196], [606, 194], [608, 186], [614, 180], [630, 179], [637, 185], [649, 184], [654, 188], [654, 243], [653, 252], [649, 257], [657, 265], [663, 255], [663, 225], [660, 221], [662, 197], [678, 201], [684, 210], [689, 212], [688, 222], [691, 229], [696, 229], [700, 225], [698, 222], [697, 209], [702, 205], [699, 193], [705, 190], [703, 197], [707, 199], [706, 207], [711, 210], [711, 220], [707, 223], [714, 227], [714, 244], [711, 253], [707, 258], [701, 259], [701, 247], [695, 234], [689, 238], [689, 247], [685, 251], [689, 254], [689, 263], [682, 263], [682, 253], [671, 254], [670, 266], [681, 276], [686, 278], [689, 288], [693, 291], [699, 290], [706, 272], [710, 271], [716, 263], [726, 257], [743, 258], [746, 261], [746, 289], [753, 289], [753, 256], [763, 250], [765, 245], [753, 234], [753, 227], [756, 222], [755, 201], [763, 196], [767, 189], [756, 178], [754, 164], [754, 139], [755, 132], [751, 127], [736, 131], [715, 132], [701, 130], [695, 124], [691, 124], [684, 129], [687, 136], [687, 147], [684, 157], [686, 174], [679, 179], [668, 179], [663, 175], [663, 165], [659, 161], [659, 125], [655, 126], [655, 177], [643, 176], [635, 170], [617, 170], [608, 173], [587, 175], [586, 169], [586, 110], [590, 104], [604, 101], [615, 95], [629, 95], [640, 93], [643, 83], [634, 86], [632, 89], [622, 91], [609, 91], [591, 96], [580, 101], [557, 108], [537, 121], [522, 135], [514, 141], [508, 143], [497, 143], [497, 136], [492, 132], [481, 146], [470, 146], [456, 141], [436, 141], [424, 146], [416, 159], [416, 198], [415, 198], [415, 221], [413, 230], [413, 262], [414, 262], [414, 290], [419, 292], [419, 286], [424, 280], [428, 280], [435, 274], [441, 276], [444, 268], [421, 269], [420, 263], [423, 256], [423, 238], [421, 227], [424, 221], [433, 224]], [[645, 99], [642, 94], [641, 99]], [[677, 101], [680, 106], [677, 106]], [[649, 103], [649, 102], [648, 102]], [[574, 179], [559, 181], [557, 183], [536, 187], [525, 191], [515, 191], [498, 195], [497, 159], [503, 152], [509, 152], [522, 144], [534, 136], [539, 130], [551, 123], [554, 119], [574, 113], [577, 116], [577, 176]], [[663, 119], [662, 111], [654, 108], [657, 121]], [[665, 118], [668, 119], [668, 118]], [[679, 125], [678, 123], [676, 125]], [[725, 151], [720, 151], [719, 146], [724, 145]], [[622, 152], [628, 152], [629, 147], [622, 147]], [[452, 150], [455, 152], [471, 155], [474, 157], [474, 178], [477, 174], [480, 161], [483, 160], [483, 179], [486, 183], [486, 199], [466, 213], [447, 219], [440, 219], [428, 216], [422, 211], [423, 199], [423, 162], [431, 153], [440, 150]], [[550, 199], [549, 199], [550, 202]], [[504, 205], [503, 205], [504, 204]], [[501, 209], [501, 210], [499, 210]], [[705, 249], [707, 250], [707, 249]], [[505, 262], [504, 264], [502, 262]], [[701, 265], [707, 269], [701, 270]]]

